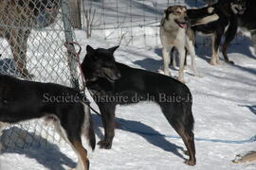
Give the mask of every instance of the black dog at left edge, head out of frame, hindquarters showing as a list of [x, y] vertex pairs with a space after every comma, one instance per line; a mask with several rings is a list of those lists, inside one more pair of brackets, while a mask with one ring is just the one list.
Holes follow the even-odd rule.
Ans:
[[0, 75], [0, 132], [9, 124], [42, 117], [51, 120], [60, 136], [71, 144], [79, 159], [76, 170], [87, 170], [89, 161], [81, 135], [86, 134], [94, 149], [95, 134], [90, 110], [82, 104], [80, 94], [57, 84]]

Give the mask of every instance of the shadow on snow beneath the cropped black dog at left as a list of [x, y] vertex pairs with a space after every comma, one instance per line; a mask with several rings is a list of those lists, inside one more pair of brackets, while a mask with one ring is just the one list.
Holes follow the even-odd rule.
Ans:
[[[15, 131], [19, 134], [26, 134], [26, 139], [27, 137], [31, 137], [32, 142], [26, 142], [26, 140], [22, 140], [20, 137], [14, 141], [11, 139], [11, 136], [14, 135]], [[77, 163], [62, 153], [57, 144], [51, 144], [45, 138], [28, 132], [22, 128], [9, 127], [8, 129], [3, 130], [3, 135], [0, 139], [1, 144], [4, 146], [2, 154], [15, 153], [25, 155], [28, 159], [37, 161], [49, 170], [65, 170], [63, 165], [70, 168], [76, 167]], [[5, 141], [8, 140], [8, 143], [4, 143], [3, 139]], [[18, 142], [19, 140], [21, 140], [20, 144]], [[12, 143], [12, 141], [14, 142]]]

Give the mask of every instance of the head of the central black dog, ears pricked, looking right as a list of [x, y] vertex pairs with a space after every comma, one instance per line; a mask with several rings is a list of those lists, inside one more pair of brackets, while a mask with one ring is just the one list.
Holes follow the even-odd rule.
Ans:
[[96, 80], [99, 77], [114, 82], [120, 78], [119, 69], [114, 59], [114, 52], [119, 48], [93, 49], [87, 45], [87, 54], [82, 61], [82, 72], [87, 80]]

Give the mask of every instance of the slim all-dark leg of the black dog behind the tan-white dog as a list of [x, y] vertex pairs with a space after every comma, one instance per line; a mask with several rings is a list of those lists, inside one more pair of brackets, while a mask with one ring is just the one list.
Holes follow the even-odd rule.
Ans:
[[229, 47], [229, 43], [232, 42], [232, 40], [235, 38], [235, 35], [237, 32], [237, 27], [238, 27], [237, 18], [236, 18], [236, 16], [233, 16], [230, 19], [229, 28], [228, 28], [228, 30], [226, 32], [226, 36], [225, 36], [225, 42], [222, 46], [222, 54], [224, 56], [224, 59], [226, 62], [228, 62], [230, 64], [234, 64], [234, 62], [232, 60], [229, 60], [228, 47]]

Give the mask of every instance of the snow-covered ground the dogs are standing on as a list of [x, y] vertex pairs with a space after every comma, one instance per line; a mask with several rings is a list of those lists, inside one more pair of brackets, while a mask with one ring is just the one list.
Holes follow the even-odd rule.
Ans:
[[[87, 40], [82, 31], [76, 34], [82, 43], [82, 56], [86, 44], [117, 45], [101, 38]], [[256, 148], [253, 141], [256, 135], [255, 54], [249, 40], [245, 40], [229, 48], [229, 58], [235, 65], [211, 66], [209, 51], [210, 47], [205, 46], [197, 49], [196, 62], [203, 77], [192, 76], [190, 66], [186, 74], [193, 95], [197, 164], [190, 167], [183, 163], [188, 158], [183, 153], [185, 146], [159, 108], [154, 103], [140, 103], [118, 107], [117, 121], [122, 128], [116, 129], [111, 150], [97, 147], [94, 153], [90, 152], [92, 170], [256, 169], [256, 163], [231, 162], [235, 155]], [[162, 65], [160, 47], [120, 46], [115, 56], [122, 63], [154, 72]], [[171, 72], [177, 75], [177, 71]], [[93, 120], [99, 141], [103, 132], [101, 119], [93, 114]], [[0, 156], [0, 170], [64, 170], [75, 167], [76, 162], [76, 155], [68, 144], [48, 143], [5, 151]]]

